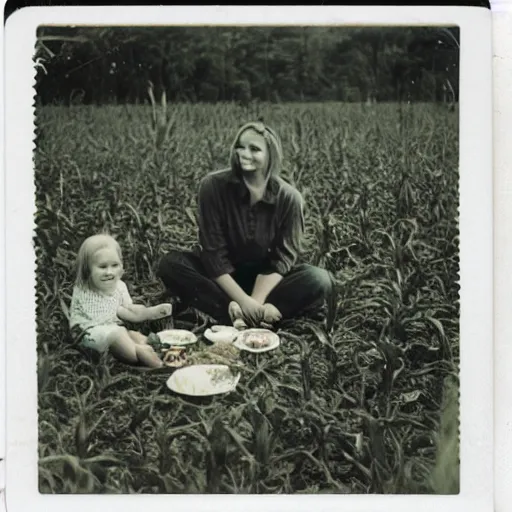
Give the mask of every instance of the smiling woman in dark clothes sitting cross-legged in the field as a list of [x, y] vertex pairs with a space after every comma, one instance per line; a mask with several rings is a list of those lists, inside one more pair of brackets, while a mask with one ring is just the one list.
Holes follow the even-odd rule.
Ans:
[[303, 200], [279, 177], [282, 158], [271, 128], [261, 122], [240, 128], [230, 168], [201, 180], [200, 248], [171, 251], [160, 262], [157, 275], [168, 291], [220, 323], [269, 327], [326, 299], [333, 306], [331, 274], [296, 264]]

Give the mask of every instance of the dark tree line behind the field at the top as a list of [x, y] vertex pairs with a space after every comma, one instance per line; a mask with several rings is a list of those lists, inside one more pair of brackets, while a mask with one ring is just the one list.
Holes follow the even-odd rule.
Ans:
[[458, 100], [458, 27], [39, 27], [39, 104]]

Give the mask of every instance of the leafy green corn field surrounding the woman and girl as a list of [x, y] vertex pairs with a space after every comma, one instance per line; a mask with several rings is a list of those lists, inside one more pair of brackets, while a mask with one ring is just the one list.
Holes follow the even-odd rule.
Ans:
[[[38, 108], [40, 492], [458, 493], [458, 113], [257, 108]], [[207, 398], [72, 346], [82, 241], [114, 235], [134, 301], [158, 303], [159, 258], [196, 243], [199, 180], [259, 115], [305, 199], [304, 261], [336, 278], [332, 331], [287, 326], [277, 350], [240, 353], [235, 391]], [[204, 330], [200, 315], [172, 322]]]

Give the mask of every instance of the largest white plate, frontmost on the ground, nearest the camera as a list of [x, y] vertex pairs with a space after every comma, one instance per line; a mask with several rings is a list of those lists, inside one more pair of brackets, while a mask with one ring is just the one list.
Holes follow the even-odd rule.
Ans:
[[223, 364], [196, 364], [176, 370], [167, 387], [181, 395], [209, 396], [229, 393], [236, 388], [240, 373], [233, 375]]

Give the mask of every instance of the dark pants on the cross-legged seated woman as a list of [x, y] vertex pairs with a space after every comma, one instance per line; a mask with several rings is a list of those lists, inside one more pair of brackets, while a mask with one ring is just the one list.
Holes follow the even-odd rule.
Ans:
[[[250, 295], [262, 266], [248, 264], [238, 267], [232, 275], [240, 287]], [[193, 252], [171, 251], [158, 267], [157, 276], [169, 293], [221, 323], [229, 322], [230, 297], [212, 279], [207, 277], [199, 256]], [[294, 267], [268, 295], [283, 320], [295, 318], [320, 308], [327, 300], [333, 303], [334, 280], [324, 269], [302, 264]]]

